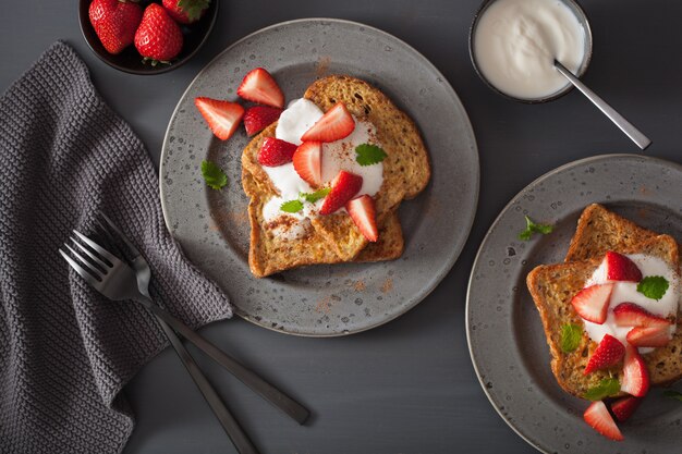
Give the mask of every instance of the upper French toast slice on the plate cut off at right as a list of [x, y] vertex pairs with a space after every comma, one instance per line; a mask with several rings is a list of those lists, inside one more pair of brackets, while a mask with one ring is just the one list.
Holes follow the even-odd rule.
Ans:
[[[588, 232], [583, 230], [582, 232]], [[601, 231], [593, 231], [604, 233]], [[594, 233], [593, 233], [594, 234]], [[604, 235], [599, 235], [601, 237]], [[590, 244], [587, 238], [574, 238], [576, 244]], [[649, 236], [640, 243], [629, 245], [611, 241], [608, 248], [597, 247], [594, 250], [614, 250], [621, 254], [646, 254], [659, 257], [670, 267], [678, 269], [679, 250], [678, 244], [669, 235]], [[579, 347], [565, 353], [561, 349], [562, 327], [568, 323], [583, 326], [583, 320], [575, 312], [571, 299], [577, 294], [585, 281], [601, 262], [602, 256], [595, 254], [585, 260], [571, 261], [557, 265], [543, 265], [536, 267], [526, 278], [528, 291], [540, 314], [547, 344], [551, 353], [551, 370], [557, 382], [568, 393], [583, 397], [588, 389], [597, 385], [600, 380], [610, 376], [622, 380], [622, 361], [609, 369], [583, 375], [587, 361], [597, 343], [592, 341], [586, 332]], [[673, 339], [666, 347], [656, 348], [654, 352], [644, 354], [653, 385], [670, 384], [682, 377], [682, 320], [678, 316], [678, 329]]]

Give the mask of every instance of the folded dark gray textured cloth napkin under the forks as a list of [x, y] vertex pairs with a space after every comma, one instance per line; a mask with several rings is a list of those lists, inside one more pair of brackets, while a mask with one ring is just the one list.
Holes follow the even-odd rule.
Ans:
[[149, 261], [156, 302], [194, 328], [232, 316], [169, 235], [158, 194], [143, 144], [68, 45], [0, 98], [0, 453], [119, 453], [133, 430], [120, 391], [166, 340], [59, 256], [97, 210]]

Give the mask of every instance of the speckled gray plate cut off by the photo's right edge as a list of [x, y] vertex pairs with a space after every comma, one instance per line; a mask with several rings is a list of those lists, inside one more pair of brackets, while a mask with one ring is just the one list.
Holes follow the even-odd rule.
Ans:
[[[682, 167], [608, 155], [549, 172], [502, 210], [480, 246], [466, 302], [468, 346], [480, 384], [500, 416], [547, 453], [680, 452], [682, 405], [653, 390], [611, 442], [582, 419], [586, 402], [564, 393], [549, 368], [540, 318], [525, 285], [537, 265], [561, 262], [582, 210], [600, 203], [640, 225], [682, 241]], [[550, 235], [516, 240], [524, 214], [550, 222]]]

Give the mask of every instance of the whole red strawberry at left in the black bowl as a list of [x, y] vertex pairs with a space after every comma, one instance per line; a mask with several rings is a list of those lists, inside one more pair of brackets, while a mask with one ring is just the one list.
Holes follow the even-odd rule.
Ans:
[[142, 7], [125, 0], [94, 0], [88, 15], [107, 52], [117, 54], [133, 44]]

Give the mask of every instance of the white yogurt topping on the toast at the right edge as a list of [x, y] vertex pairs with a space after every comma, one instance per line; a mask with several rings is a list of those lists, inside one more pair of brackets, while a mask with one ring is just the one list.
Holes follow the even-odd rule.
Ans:
[[[643, 254], [628, 255], [642, 271], [644, 278], [649, 275], [661, 275], [669, 282], [668, 291], [662, 298], [656, 300], [647, 298], [642, 293], [637, 292], [636, 282], [614, 282], [613, 292], [611, 293], [611, 300], [609, 303], [609, 310], [606, 321], [602, 324], [593, 323], [587, 320], [585, 322], [585, 331], [589, 339], [596, 343], [601, 342], [605, 334], [610, 334], [626, 345], [628, 332], [632, 327], [618, 327], [616, 326], [616, 317], [613, 315], [613, 308], [621, 303], [634, 303], [637, 306], [648, 310], [655, 316], [667, 318], [669, 316], [677, 316], [678, 307], [680, 304], [680, 278], [678, 273], [668, 267], [668, 265], [658, 257], [646, 256]], [[585, 283], [585, 286], [607, 283], [606, 268], [604, 263], [599, 266]], [[670, 335], [675, 332], [675, 324], [670, 327]], [[654, 348], [640, 348], [640, 353], [651, 352]]]

